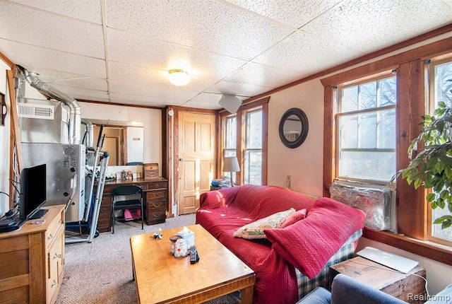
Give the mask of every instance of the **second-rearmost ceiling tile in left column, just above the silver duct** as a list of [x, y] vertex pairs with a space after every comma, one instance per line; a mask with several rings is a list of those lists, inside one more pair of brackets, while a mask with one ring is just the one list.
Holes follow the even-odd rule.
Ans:
[[75, 88], [88, 88], [90, 90], [107, 91], [107, 81], [102, 78], [84, 76], [78, 74], [65, 73], [61, 71], [52, 71], [40, 69], [40, 80], [49, 83], [49, 85], [71, 86]]

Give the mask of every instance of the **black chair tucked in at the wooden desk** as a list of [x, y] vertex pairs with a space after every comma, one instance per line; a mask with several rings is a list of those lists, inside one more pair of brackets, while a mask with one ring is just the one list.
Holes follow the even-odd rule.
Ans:
[[[132, 195], [133, 197], [130, 197]], [[130, 198], [128, 199], [127, 197]], [[141, 230], [143, 230], [143, 189], [140, 186], [124, 185], [116, 187], [112, 191], [112, 233], [114, 233], [114, 222], [116, 221], [114, 211], [124, 211], [126, 209], [140, 209], [141, 214], [139, 218], [141, 219]]]

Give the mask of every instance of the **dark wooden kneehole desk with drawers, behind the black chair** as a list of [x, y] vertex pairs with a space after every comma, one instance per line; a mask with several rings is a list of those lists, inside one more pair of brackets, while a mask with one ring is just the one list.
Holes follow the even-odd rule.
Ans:
[[143, 189], [145, 223], [165, 223], [167, 218], [168, 181], [163, 177], [138, 180], [107, 180], [100, 205], [97, 230], [107, 232], [112, 228], [112, 191], [121, 185], [138, 185]]

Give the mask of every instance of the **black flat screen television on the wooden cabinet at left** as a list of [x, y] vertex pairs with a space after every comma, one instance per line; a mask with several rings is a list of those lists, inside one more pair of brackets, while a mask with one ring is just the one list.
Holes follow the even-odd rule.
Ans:
[[46, 164], [23, 168], [20, 173], [20, 219], [41, 218], [47, 212], [41, 209], [47, 199], [46, 174]]

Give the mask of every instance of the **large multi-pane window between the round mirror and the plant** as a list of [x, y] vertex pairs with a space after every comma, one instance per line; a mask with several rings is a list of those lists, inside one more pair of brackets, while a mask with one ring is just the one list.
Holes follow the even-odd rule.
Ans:
[[338, 87], [338, 177], [396, 174], [396, 76]]

